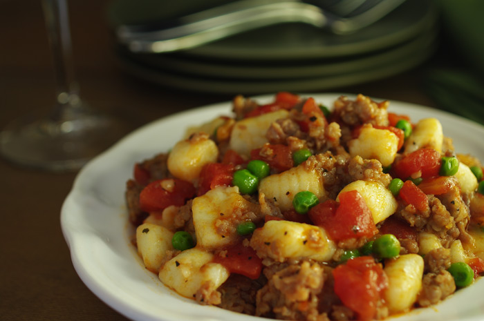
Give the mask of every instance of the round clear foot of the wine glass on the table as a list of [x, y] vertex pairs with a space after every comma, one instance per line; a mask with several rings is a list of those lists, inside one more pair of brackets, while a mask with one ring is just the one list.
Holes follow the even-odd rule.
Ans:
[[130, 128], [104, 115], [82, 114], [69, 121], [24, 117], [0, 133], [0, 153], [10, 162], [46, 171], [76, 171]]

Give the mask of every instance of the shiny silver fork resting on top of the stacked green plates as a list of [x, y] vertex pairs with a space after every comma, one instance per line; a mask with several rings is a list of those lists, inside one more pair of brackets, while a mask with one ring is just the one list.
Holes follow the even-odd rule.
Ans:
[[[344, 0], [348, 2], [348, 0]], [[132, 52], [172, 52], [202, 46], [277, 23], [308, 23], [348, 34], [378, 21], [405, 0], [358, 1], [362, 12], [344, 18], [301, 0], [239, 0], [170, 21], [168, 26], [119, 26], [118, 41]], [[355, 11], [357, 8], [352, 8]], [[351, 13], [351, 12], [350, 12]], [[346, 12], [348, 14], [348, 12]]]

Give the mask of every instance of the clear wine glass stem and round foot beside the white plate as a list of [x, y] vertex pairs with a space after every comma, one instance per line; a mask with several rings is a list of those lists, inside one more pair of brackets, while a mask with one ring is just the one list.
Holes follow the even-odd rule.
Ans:
[[66, 0], [43, 0], [53, 52], [56, 101], [50, 113], [12, 121], [0, 133], [3, 157], [48, 171], [74, 171], [127, 133], [127, 123], [91, 109], [79, 95]]

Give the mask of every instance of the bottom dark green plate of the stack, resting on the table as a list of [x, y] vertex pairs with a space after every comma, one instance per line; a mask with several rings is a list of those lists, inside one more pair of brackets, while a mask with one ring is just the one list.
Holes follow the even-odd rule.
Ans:
[[278, 91], [308, 92], [328, 90], [342, 86], [361, 84], [366, 81], [383, 79], [409, 70], [427, 60], [436, 48], [431, 41], [426, 46], [416, 48], [406, 57], [389, 59], [386, 64], [366, 66], [353, 72], [337, 73], [328, 76], [315, 76], [291, 79], [241, 79], [189, 75], [182, 72], [154, 68], [140, 64], [127, 56], [119, 55], [120, 66], [129, 74], [151, 81], [161, 86], [192, 90], [201, 93], [254, 95]]

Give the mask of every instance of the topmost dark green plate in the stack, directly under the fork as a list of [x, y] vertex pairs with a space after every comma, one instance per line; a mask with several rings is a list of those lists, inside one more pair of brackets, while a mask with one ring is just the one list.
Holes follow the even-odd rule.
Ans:
[[[184, 8], [194, 11], [201, 3], [207, 4], [206, 1], [187, 0], [116, 0], [109, 7], [109, 22], [115, 28], [120, 23], [163, 21], [183, 14]], [[300, 61], [362, 55], [416, 37], [434, 25], [436, 11], [432, 0], [407, 0], [387, 17], [352, 35], [333, 35], [302, 23], [285, 23], [184, 50], [184, 54], [237, 61]]]

